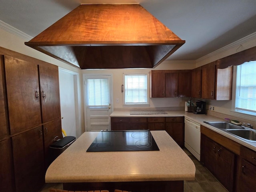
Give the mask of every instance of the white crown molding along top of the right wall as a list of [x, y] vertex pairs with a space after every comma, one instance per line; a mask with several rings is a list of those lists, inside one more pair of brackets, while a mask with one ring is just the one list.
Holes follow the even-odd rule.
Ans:
[[[237, 40], [237, 41], [235, 41], [235, 42], [233, 42], [233, 43], [231, 43], [231, 44], [229, 44], [229, 45], [227, 45], [227, 46], [224, 46], [224, 47], [222, 47], [222, 48], [220, 48], [220, 49], [218, 49], [218, 50], [216, 50], [216, 51], [214, 51], [214, 52], [212, 52], [212, 53], [210, 53], [210, 54], [208, 54], [208, 55], [206, 55], [206, 56], [203, 56], [203, 57], [197, 59], [197, 60], [196, 60], [196, 63], [197, 63], [197, 62], [200, 62], [200, 61], [202, 61], [202, 60], [205, 60], [205, 59], [207, 59], [207, 58], [210, 58], [210, 57], [212, 57], [212, 56], [215, 56], [215, 55], [217, 55], [217, 54], [220, 54], [220, 53], [222, 53], [222, 52], [225, 52], [225, 51], [227, 51], [227, 50], [230, 50], [230, 49], [232, 49], [232, 48], [234, 48], [234, 47], [236, 47], [236, 46], [241, 46], [242, 44], [244, 44], [244, 43], [246, 43], [246, 42], [248, 42], [248, 41], [251, 41], [251, 40], [253, 40], [253, 39], [255, 39], [255, 38], [256, 38], [256, 32], [254, 32], [254, 33], [252, 33], [252, 34], [250, 34], [250, 35], [248, 35], [248, 36], [246, 36], [246, 37], [244, 37], [244, 38], [242, 38], [242, 39], [240, 39], [240, 40]], [[241, 51], [242, 51], [242, 50], [241, 50]]]

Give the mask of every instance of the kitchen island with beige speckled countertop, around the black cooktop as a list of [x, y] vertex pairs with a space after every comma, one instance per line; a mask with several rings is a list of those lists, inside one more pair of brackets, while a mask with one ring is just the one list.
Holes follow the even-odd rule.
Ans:
[[183, 191], [192, 160], [165, 131], [151, 131], [159, 151], [86, 152], [99, 132], [85, 132], [49, 166], [46, 183], [65, 190]]

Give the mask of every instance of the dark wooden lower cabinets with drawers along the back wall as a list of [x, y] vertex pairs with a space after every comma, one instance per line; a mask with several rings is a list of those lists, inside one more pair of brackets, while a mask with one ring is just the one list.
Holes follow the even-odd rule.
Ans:
[[166, 130], [184, 146], [184, 117], [112, 117], [111, 130]]

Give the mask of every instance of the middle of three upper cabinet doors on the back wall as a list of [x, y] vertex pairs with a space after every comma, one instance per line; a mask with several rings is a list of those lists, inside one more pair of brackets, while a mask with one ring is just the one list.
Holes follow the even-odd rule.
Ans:
[[178, 73], [165, 74], [165, 97], [178, 97]]

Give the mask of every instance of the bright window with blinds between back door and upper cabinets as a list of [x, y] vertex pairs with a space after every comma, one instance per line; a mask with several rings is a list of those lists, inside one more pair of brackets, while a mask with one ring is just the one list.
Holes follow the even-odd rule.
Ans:
[[148, 75], [124, 75], [124, 104], [148, 104]]

